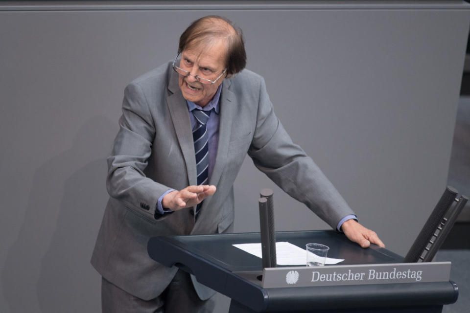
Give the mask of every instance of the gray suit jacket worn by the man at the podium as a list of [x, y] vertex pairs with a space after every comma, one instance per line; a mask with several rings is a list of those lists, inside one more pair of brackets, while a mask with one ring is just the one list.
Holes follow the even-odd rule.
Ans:
[[[274, 114], [262, 77], [243, 70], [223, 82], [219, 143], [209, 182], [217, 191], [203, 202], [197, 221], [188, 209], [156, 220], [156, 203], [166, 190], [196, 184], [191, 123], [171, 63], [133, 81], [124, 92], [119, 132], [108, 158], [111, 197], [93, 266], [124, 291], [145, 300], [158, 296], [177, 268], [151, 260], [148, 239], [230, 231], [233, 184], [247, 153], [260, 171], [331, 227], [353, 214], [312, 159], [292, 143]], [[203, 299], [211, 294], [196, 289]]]

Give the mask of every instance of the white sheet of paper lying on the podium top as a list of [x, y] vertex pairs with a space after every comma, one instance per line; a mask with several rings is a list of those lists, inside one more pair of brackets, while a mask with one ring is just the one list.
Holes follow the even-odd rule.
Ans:
[[[261, 258], [261, 244], [238, 244], [233, 245], [243, 251]], [[278, 265], [305, 265], [306, 250], [288, 242], [276, 243], [276, 263]], [[326, 264], [338, 264], [344, 259], [327, 258]]]

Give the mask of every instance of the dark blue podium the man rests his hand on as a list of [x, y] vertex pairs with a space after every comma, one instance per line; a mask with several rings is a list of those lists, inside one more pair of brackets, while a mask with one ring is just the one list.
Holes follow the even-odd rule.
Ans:
[[[330, 247], [341, 265], [401, 263], [403, 258], [378, 246], [363, 249], [333, 230], [276, 232], [276, 241], [305, 248]], [[229, 313], [438, 313], [458, 297], [455, 283], [402, 283], [328, 287], [262, 288], [261, 259], [233, 244], [259, 243], [259, 233], [153, 237], [149, 256], [167, 267], [178, 266], [198, 282], [230, 297]]]

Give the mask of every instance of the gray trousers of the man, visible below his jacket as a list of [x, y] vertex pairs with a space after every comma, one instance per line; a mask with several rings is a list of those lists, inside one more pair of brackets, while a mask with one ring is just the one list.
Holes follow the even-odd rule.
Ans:
[[162, 294], [148, 301], [101, 278], [102, 313], [212, 313], [214, 307], [214, 297], [199, 299], [189, 274], [182, 270], [178, 270]]

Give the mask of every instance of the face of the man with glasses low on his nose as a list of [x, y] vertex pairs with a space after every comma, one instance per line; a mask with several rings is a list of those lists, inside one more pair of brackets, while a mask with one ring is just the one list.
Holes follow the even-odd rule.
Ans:
[[204, 107], [212, 100], [217, 88], [224, 80], [220, 77], [214, 84], [202, 84], [196, 75], [214, 81], [225, 69], [227, 48], [224, 42], [216, 41], [213, 45], [195, 45], [181, 52], [179, 67], [187, 70], [190, 75], [180, 75], [179, 86], [183, 97]]

